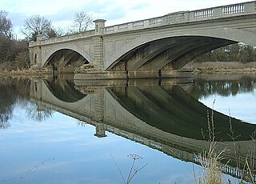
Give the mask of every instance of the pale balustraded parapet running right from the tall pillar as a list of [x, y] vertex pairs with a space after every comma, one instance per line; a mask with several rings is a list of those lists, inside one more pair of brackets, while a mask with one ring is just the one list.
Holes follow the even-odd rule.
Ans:
[[256, 1], [243, 2], [228, 6], [218, 6], [202, 10], [181, 11], [171, 14], [166, 14], [162, 17], [150, 18], [136, 22], [128, 22], [115, 26], [108, 26], [105, 28], [105, 33], [122, 32], [126, 30], [138, 30], [150, 28], [154, 26], [165, 26], [170, 24], [177, 24], [183, 22], [202, 21], [204, 19], [226, 18], [239, 16], [241, 14], [255, 14]]

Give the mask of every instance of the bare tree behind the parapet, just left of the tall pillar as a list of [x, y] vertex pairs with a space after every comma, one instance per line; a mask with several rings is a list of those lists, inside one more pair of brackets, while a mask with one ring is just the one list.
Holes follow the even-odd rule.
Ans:
[[73, 33], [80, 33], [88, 30], [93, 24], [93, 18], [91, 14], [87, 14], [84, 11], [78, 12], [74, 15], [74, 26], [72, 29]]

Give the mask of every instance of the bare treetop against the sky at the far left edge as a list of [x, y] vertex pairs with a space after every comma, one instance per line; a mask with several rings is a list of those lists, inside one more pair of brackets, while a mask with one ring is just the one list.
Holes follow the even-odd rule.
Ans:
[[13, 24], [7, 15], [6, 11], [0, 10], [0, 34], [10, 38]]

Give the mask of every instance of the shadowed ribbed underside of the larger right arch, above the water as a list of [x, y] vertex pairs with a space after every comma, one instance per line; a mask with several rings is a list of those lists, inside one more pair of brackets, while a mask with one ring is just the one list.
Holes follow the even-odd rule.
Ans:
[[126, 50], [106, 70], [179, 70], [202, 54], [234, 43], [197, 35], [159, 38]]

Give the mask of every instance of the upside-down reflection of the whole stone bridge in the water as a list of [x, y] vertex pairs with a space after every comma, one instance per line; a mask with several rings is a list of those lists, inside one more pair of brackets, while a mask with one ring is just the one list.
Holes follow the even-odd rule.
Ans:
[[[217, 150], [222, 171], [239, 178], [254, 146], [255, 125], [230, 118], [204, 106], [190, 93], [190, 81], [166, 79], [126, 81], [47, 81], [31, 82], [30, 98], [40, 108], [51, 108], [96, 127], [95, 136], [106, 131], [160, 150], [174, 158], [200, 164], [196, 156], [209, 150], [209, 115], [214, 114]], [[230, 122], [235, 142], [230, 138]], [[235, 147], [238, 150], [234, 150]], [[235, 154], [236, 153], [236, 154]], [[255, 162], [253, 158], [252, 162]], [[228, 165], [226, 164], [228, 162]], [[241, 170], [240, 170], [241, 169]]]

